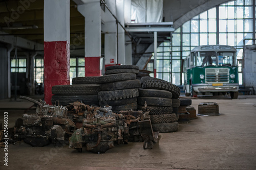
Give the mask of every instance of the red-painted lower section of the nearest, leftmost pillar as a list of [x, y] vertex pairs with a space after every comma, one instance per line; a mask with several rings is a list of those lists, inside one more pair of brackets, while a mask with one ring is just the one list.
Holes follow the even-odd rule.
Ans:
[[70, 84], [69, 42], [44, 42], [45, 101], [52, 105], [52, 86]]

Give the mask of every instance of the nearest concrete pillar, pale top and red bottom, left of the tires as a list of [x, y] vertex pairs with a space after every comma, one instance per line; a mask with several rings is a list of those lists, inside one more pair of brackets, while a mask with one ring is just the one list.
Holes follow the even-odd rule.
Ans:
[[52, 86], [70, 84], [70, 0], [44, 1], [45, 101]]

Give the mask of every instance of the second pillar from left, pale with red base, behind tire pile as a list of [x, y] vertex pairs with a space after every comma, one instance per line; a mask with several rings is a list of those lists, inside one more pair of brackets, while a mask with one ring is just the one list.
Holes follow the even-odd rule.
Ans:
[[101, 76], [101, 8], [100, 1], [85, 0], [77, 10], [84, 16], [85, 76]]

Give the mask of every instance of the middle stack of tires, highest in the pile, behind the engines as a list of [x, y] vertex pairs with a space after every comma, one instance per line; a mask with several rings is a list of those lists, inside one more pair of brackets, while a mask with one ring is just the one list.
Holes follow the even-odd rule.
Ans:
[[[112, 111], [137, 110], [138, 88], [141, 84], [136, 80], [136, 74], [139, 74], [139, 67], [134, 65], [115, 65], [105, 68], [105, 76], [108, 81], [101, 82], [102, 91], [98, 93], [99, 105], [112, 106]], [[120, 75], [126, 75], [126, 78], [118, 79]]]

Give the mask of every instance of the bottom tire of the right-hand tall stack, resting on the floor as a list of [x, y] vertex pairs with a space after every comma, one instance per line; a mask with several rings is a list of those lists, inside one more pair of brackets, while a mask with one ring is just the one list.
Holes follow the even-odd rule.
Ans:
[[176, 132], [179, 128], [179, 123], [168, 123], [168, 124], [152, 124], [153, 131], [160, 133]]

